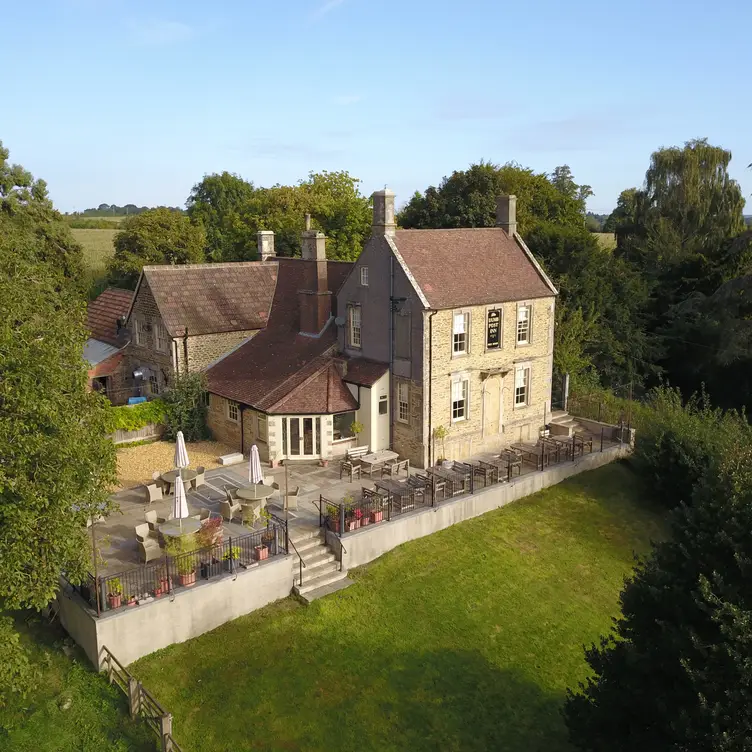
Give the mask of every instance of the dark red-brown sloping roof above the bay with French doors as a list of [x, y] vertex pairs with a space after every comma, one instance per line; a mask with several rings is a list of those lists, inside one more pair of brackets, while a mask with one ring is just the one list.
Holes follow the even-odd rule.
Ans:
[[[330, 322], [321, 337], [299, 334], [297, 293], [305, 287], [306, 263], [309, 262], [285, 258], [275, 262], [279, 275], [268, 324], [253, 339], [207, 370], [210, 392], [265, 412], [292, 412], [292, 408], [301, 413], [329, 412], [324, 406], [336, 407], [334, 412], [354, 409], [354, 400], [350, 402], [340, 385], [331, 383], [341, 384], [339, 374], [333, 376], [330, 369], [337, 342], [334, 322]], [[339, 290], [352, 266], [337, 261], [327, 264], [330, 290]], [[332, 301], [336, 301], [336, 296], [332, 296]], [[323, 372], [327, 374], [326, 405]], [[349, 393], [347, 387], [341, 386]]]

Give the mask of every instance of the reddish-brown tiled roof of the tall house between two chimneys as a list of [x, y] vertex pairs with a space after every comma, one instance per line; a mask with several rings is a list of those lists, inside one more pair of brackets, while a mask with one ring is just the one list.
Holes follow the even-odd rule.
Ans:
[[517, 239], [498, 227], [397, 230], [394, 243], [431, 308], [556, 294]]

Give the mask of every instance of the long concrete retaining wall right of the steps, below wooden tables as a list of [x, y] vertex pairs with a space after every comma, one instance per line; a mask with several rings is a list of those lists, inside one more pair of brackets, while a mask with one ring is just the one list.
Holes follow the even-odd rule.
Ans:
[[546, 470], [528, 473], [510, 483], [499, 483], [474, 494], [441, 502], [437, 507], [421, 509], [401, 515], [390, 522], [369, 525], [343, 536], [347, 552], [343, 554], [348, 569], [367, 564], [402, 543], [431, 535], [463, 520], [478, 517], [512, 501], [536, 493], [569, 478], [572, 475], [594, 470], [631, 452], [628, 445], [611, 447], [603, 452], [593, 452], [574, 462], [565, 462]]

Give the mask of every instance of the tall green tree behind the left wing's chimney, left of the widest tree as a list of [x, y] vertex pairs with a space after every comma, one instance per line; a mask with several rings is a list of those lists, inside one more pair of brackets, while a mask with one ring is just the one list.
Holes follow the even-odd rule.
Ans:
[[206, 257], [230, 261], [253, 256], [256, 236], [241, 220], [255, 189], [253, 183], [229, 172], [204, 175], [188, 196], [188, 216], [206, 233]]

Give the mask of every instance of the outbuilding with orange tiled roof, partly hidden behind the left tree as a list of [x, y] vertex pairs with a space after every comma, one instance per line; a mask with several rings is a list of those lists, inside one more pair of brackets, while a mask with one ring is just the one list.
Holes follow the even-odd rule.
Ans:
[[84, 360], [89, 366], [89, 388], [105, 394], [113, 405], [122, 405], [131, 396], [124, 350], [128, 335], [123, 321], [132, 301], [130, 290], [108, 287], [86, 311], [90, 336], [84, 345]]

